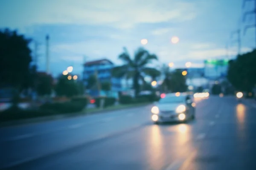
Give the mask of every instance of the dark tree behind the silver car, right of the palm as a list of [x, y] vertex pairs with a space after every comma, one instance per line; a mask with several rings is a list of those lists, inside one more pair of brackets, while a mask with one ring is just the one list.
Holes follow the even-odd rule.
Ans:
[[187, 91], [186, 76], [182, 75], [182, 72], [175, 70], [170, 73], [168, 89], [172, 92], [185, 92]]

